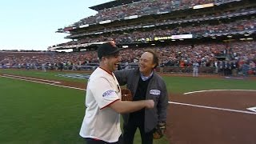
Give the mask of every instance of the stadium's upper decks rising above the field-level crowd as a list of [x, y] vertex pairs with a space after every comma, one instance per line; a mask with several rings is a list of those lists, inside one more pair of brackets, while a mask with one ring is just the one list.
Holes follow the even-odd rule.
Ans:
[[90, 7], [98, 14], [58, 29], [71, 41], [48, 50], [90, 50], [110, 40], [130, 48], [254, 40], [255, 27], [241, 26], [255, 23], [255, 6], [254, 0], [106, 2]]

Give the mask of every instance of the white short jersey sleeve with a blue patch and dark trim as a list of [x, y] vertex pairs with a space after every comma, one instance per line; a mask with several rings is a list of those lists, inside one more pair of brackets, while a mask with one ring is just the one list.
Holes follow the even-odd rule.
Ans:
[[100, 109], [120, 99], [118, 91], [111, 86], [107, 78], [98, 78], [94, 82], [91, 82], [90, 91], [94, 95]]

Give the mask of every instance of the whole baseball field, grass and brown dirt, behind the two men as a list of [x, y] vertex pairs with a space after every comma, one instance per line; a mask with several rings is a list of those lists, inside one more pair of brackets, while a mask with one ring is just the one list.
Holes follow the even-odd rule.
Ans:
[[[86, 77], [78, 71], [0, 70], [0, 143], [84, 143]], [[255, 143], [256, 78], [162, 74], [166, 136], [154, 144]], [[141, 142], [137, 132], [134, 143]]]

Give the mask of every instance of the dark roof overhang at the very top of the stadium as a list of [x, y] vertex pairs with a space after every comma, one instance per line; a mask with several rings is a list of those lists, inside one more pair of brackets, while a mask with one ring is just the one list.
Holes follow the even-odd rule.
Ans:
[[90, 6], [89, 8], [92, 10], [99, 11], [99, 10], [104, 10], [104, 9], [108, 9], [115, 6], [122, 6], [128, 3], [140, 2], [140, 1], [142, 0], [115, 0], [111, 2], [102, 3], [96, 6]]

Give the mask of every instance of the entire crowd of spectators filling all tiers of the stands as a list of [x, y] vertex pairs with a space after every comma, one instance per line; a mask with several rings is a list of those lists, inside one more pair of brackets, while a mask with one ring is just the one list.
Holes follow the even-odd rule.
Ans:
[[[83, 18], [81, 21], [76, 22], [74, 26], [82, 26], [105, 20], [113, 21], [132, 15], [169, 13], [171, 10], [189, 9], [200, 4], [214, 3], [219, 5], [234, 1], [238, 0], [142, 0], [100, 10], [98, 14], [89, 18]], [[216, 11], [210, 14], [187, 14], [186, 16], [179, 16], [180, 18], [159, 19], [154, 23], [142, 22], [141, 24], [129, 26], [112, 26], [112, 28], [105, 28], [100, 34], [96, 34], [95, 31], [86, 33], [84, 30], [78, 30], [80, 32], [75, 32], [70, 34], [70, 37], [67, 37], [78, 39], [77, 41], [66, 42], [56, 46], [82, 47], [78, 45], [110, 40], [114, 40], [117, 44], [137, 43], [180, 34], [193, 34], [193, 38], [207, 37], [209, 35], [214, 37], [222, 34], [250, 35], [255, 33], [256, 30], [256, 20], [251, 16], [255, 13], [254, 7], [246, 9], [240, 7], [231, 11], [222, 10], [222, 12]], [[143, 27], [147, 25], [149, 25], [148, 28]], [[150, 25], [152, 25], [152, 28]], [[162, 67], [191, 67], [193, 62], [198, 62], [201, 67], [215, 67], [215, 73], [223, 72], [224, 74], [230, 74], [231, 70], [238, 69], [243, 71], [243, 74], [247, 74], [250, 70], [255, 74], [255, 48], [255, 41], [241, 41], [230, 42], [230, 44], [216, 42], [193, 45], [172, 44], [171, 46], [157, 46], [154, 47], [154, 50], [160, 55], [160, 66]], [[130, 47], [122, 50], [122, 63], [137, 63], [144, 49], [146, 48]], [[0, 56], [0, 67], [26, 67], [27, 69], [37, 69], [42, 66], [52, 69], [58, 69], [60, 66], [79, 69], [81, 66], [98, 63], [95, 50], [72, 53], [0, 52]], [[226, 60], [216, 58], [219, 56], [225, 57]]]

